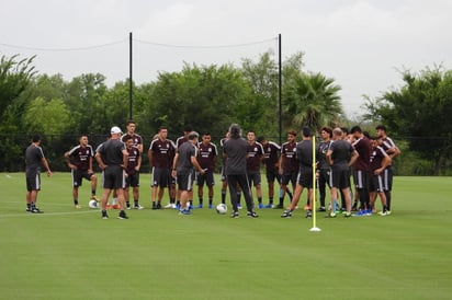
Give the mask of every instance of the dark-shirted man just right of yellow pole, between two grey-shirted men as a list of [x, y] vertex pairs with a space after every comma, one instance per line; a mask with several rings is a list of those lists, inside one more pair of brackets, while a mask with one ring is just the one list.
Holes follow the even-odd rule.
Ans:
[[320, 137], [321, 141], [317, 146], [318, 150], [318, 165], [317, 165], [317, 184], [318, 184], [318, 192], [320, 195], [320, 207], [318, 211], [326, 211], [325, 208], [325, 198], [326, 198], [326, 189], [327, 185], [329, 188], [329, 164], [327, 162], [327, 151], [331, 146], [331, 137], [332, 137], [332, 129], [330, 127], [323, 127], [320, 129]]

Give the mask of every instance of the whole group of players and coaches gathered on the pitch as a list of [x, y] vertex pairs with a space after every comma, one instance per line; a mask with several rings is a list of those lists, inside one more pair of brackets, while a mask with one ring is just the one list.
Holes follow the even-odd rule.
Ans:
[[[86, 178], [91, 183], [91, 199], [102, 201], [102, 217], [109, 218], [106, 209], [110, 207], [120, 210], [118, 218], [126, 219], [124, 209], [142, 209], [139, 204], [139, 170], [143, 157], [143, 139], [135, 132], [136, 124], [127, 122], [127, 132], [122, 134], [118, 127], [111, 128], [111, 137], [101, 143], [97, 150], [88, 143], [88, 137], [81, 136], [79, 145], [65, 153], [67, 165], [71, 170], [72, 178], [72, 199], [77, 209], [80, 208], [78, 200], [78, 188]], [[331, 192], [330, 217], [335, 217], [337, 211], [343, 211], [346, 217], [351, 216], [351, 210], [360, 209], [355, 216], [368, 216], [375, 211], [376, 195], [380, 196], [383, 210], [381, 215], [391, 214], [391, 189], [392, 189], [392, 159], [399, 154], [398, 148], [392, 139], [386, 136], [384, 126], [376, 127], [376, 137], [371, 138], [361, 128], [355, 126], [350, 134], [346, 128], [324, 127], [320, 130], [321, 141], [317, 145], [317, 161], [313, 168], [312, 132], [308, 128], [302, 129], [302, 140], [296, 141], [297, 132], [287, 132], [287, 141], [281, 147], [264, 137], [256, 138], [256, 134], [250, 130], [246, 138], [239, 139], [247, 141], [247, 149], [244, 158], [244, 172], [247, 184], [240, 186], [230, 183], [233, 215], [238, 217], [238, 209], [241, 208], [240, 195], [246, 199], [251, 198], [251, 207], [248, 208], [248, 216], [257, 217], [252, 211], [251, 187], [256, 188], [258, 208], [284, 208], [284, 196], [289, 195], [291, 203], [281, 217], [292, 217], [292, 212], [297, 208], [300, 197], [304, 188], [307, 188], [307, 210], [306, 217], [312, 216], [313, 207], [313, 185], [317, 184], [320, 195], [320, 207], [318, 211], [326, 211], [325, 198], [326, 186]], [[169, 192], [169, 204], [165, 208], [177, 208], [180, 214], [190, 215], [193, 208], [194, 181], [192, 174], [196, 176], [199, 186], [199, 203], [196, 208], [203, 208], [203, 187], [208, 189], [208, 208], [214, 207], [214, 170], [218, 159], [216, 145], [211, 141], [211, 135], [205, 132], [199, 141], [199, 136], [192, 131], [190, 126], [185, 126], [184, 135], [179, 137], [176, 142], [168, 139], [168, 128], [160, 127], [158, 134], [152, 138], [148, 149], [148, 160], [152, 170], [151, 178], [151, 208], [161, 209], [165, 189]], [[225, 149], [225, 142], [230, 138], [230, 128], [221, 147]], [[189, 142], [192, 147], [188, 148], [187, 153], [179, 153], [181, 146]], [[26, 150], [26, 210], [30, 212], [42, 212], [36, 207], [37, 192], [41, 188], [39, 164], [42, 163], [47, 175], [52, 175], [49, 165], [44, 158], [39, 147], [39, 138], [33, 137], [32, 145]], [[230, 143], [231, 145], [231, 143]], [[234, 149], [233, 149], [234, 150]], [[235, 151], [235, 150], [234, 150]], [[233, 152], [234, 152], [233, 151]], [[224, 151], [222, 168], [222, 203], [226, 203], [226, 189], [228, 176], [226, 165], [233, 158]], [[102, 182], [104, 193], [100, 200], [97, 193], [98, 178], [93, 172], [93, 158], [103, 170]], [[268, 183], [268, 204], [262, 201], [261, 189], [261, 164], [263, 163]], [[115, 165], [115, 168], [111, 168]], [[193, 170], [196, 170], [194, 173]], [[185, 172], [191, 170], [193, 172]], [[313, 172], [316, 172], [316, 182], [313, 182]], [[350, 175], [353, 174], [354, 193], [351, 191]], [[110, 174], [110, 173], [113, 173]], [[187, 175], [185, 175], [187, 173]], [[106, 175], [106, 176], [105, 176]], [[229, 177], [233, 177], [230, 174]], [[279, 204], [274, 204], [274, 182], [280, 184]], [[290, 184], [294, 194], [290, 192]], [[178, 188], [177, 188], [178, 186]], [[129, 187], [132, 187], [131, 201]], [[244, 191], [245, 189], [245, 191]], [[109, 197], [113, 192], [112, 206], [109, 205]], [[339, 205], [338, 196], [342, 197]], [[351, 205], [354, 196], [354, 204]], [[182, 204], [181, 204], [182, 200]], [[185, 205], [187, 203], [187, 205]], [[234, 204], [235, 203], [235, 204]], [[247, 199], [247, 206], [248, 199]]]

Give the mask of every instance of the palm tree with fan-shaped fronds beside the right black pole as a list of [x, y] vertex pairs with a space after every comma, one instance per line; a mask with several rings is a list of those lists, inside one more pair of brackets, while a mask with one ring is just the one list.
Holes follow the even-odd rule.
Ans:
[[319, 130], [342, 114], [340, 85], [321, 73], [300, 72], [283, 88], [283, 123], [286, 128], [308, 126]]

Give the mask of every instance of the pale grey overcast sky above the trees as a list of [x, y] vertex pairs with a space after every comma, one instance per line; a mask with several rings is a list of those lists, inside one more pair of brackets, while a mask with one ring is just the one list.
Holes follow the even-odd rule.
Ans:
[[240, 66], [241, 58], [256, 59], [269, 49], [276, 60], [281, 34], [283, 58], [305, 53], [306, 70], [342, 86], [349, 115], [361, 113], [363, 94], [374, 97], [400, 86], [397, 70], [452, 65], [450, 0], [0, 3], [0, 55], [37, 55], [41, 73], [61, 73], [68, 81], [88, 72], [104, 74], [109, 85], [128, 78], [129, 32], [137, 83], [156, 80], [158, 71], [179, 71], [183, 61]]

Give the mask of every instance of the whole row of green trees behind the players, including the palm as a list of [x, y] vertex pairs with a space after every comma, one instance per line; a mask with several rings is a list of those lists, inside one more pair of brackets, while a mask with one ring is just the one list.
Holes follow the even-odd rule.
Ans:
[[[125, 127], [128, 118], [128, 80], [110, 88], [101, 73], [66, 81], [61, 74], [39, 74], [34, 58], [1, 56], [0, 171], [23, 170], [23, 150], [35, 132], [44, 137], [53, 169], [67, 170], [63, 153], [77, 143], [80, 135], [88, 135], [95, 146], [109, 135], [112, 125]], [[351, 126], [359, 119], [361, 127], [372, 134], [375, 124], [384, 123], [392, 136], [404, 137], [400, 145], [409, 149], [404, 153], [413, 151], [408, 158], [426, 166], [418, 173], [441, 174], [449, 170], [450, 71], [436, 68], [418, 74], [405, 72], [404, 86], [375, 99], [364, 97], [368, 114], [350, 120], [343, 114], [341, 86], [320, 72], [304, 70], [303, 59], [303, 53], [296, 53], [283, 61], [282, 141], [286, 131], [306, 125], [318, 130], [325, 125]], [[187, 124], [219, 140], [231, 123], [238, 123], [245, 130], [252, 129], [278, 142], [278, 76], [271, 53], [260, 55], [256, 61], [245, 58], [239, 67], [185, 62], [181, 71], [160, 72], [155, 81], [133, 83], [133, 119], [145, 138], [145, 147], [159, 126], [167, 126], [170, 138], [176, 139]], [[434, 140], [436, 136], [443, 140]], [[428, 137], [434, 146], [425, 142]], [[403, 172], [416, 174], [419, 165]]]

